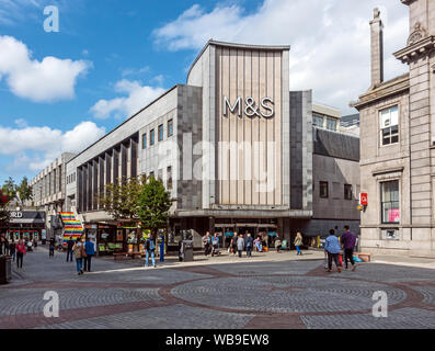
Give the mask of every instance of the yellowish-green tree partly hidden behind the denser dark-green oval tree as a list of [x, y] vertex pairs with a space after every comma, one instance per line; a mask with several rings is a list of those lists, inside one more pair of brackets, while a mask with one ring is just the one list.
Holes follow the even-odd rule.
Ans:
[[105, 194], [100, 205], [113, 219], [137, 219], [138, 197], [141, 191], [141, 180], [138, 178], [124, 179], [105, 186]]

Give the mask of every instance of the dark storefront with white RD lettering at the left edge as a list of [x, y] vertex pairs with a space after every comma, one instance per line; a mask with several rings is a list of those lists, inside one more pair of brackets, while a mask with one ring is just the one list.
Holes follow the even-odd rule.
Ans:
[[12, 211], [8, 228], [0, 228], [0, 233], [7, 235], [9, 240], [20, 239], [41, 240], [45, 233], [44, 211]]

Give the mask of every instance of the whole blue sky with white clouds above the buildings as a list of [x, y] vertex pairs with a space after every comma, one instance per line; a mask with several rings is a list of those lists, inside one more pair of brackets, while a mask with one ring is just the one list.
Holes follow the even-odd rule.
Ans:
[[400, 0], [0, 0], [0, 183], [32, 179], [185, 83], [210, 38], [290, 45], [290, 90], [356, 113], [376, 7], [387, 80], [407, 71], [392, 56], [409, 35]]

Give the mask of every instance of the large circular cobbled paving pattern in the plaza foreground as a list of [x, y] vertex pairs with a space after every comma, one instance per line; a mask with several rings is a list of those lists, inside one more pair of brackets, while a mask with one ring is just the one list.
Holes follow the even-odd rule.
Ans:
[[325, 313], [371, 309], [373, 295], [384, 291], [388, 304], [407, 298], [400, 288], [381, 283], [318, 276], [218, 278], [171, 290], [180, 299], [211, 308], [261, 313]]

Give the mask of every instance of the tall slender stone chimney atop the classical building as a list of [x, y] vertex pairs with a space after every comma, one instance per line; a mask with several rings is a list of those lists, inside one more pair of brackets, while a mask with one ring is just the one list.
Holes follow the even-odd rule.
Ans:
[[384, 81], [384, 25], [378, 8], [374, 10], [375, 16], [370, 21], [371, 36], [371, 88]]

